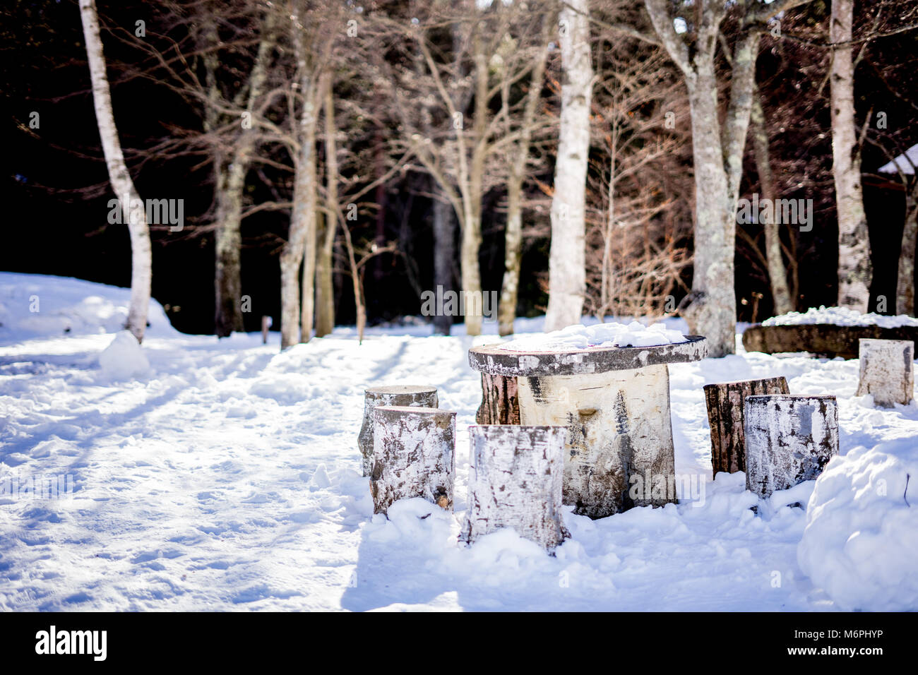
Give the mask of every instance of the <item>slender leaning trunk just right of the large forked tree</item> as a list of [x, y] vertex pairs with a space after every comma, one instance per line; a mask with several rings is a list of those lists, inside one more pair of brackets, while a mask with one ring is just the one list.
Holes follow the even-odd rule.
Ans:
[[[771, 158], [768, 143], [768, 130], [765, 124], [765, 111], [762, 109], [761, 96], [756, 91], [752, 103], [752, 139], [756, 155], [756, 171], [762, 190], [762, 197], [768, 203], [775, 201], [775, 178], [771, 172]], [[769, 211], [773, 214], [773, 211]], [[768, 265], [768, 280], [771, 286], [771, 298], [774, 313], [787, 314], [793, 311], [788, 288], [788, 271], [781, 257], [781, 235], [778, 222], [772, 217], [765, 223], [765, 258]]]

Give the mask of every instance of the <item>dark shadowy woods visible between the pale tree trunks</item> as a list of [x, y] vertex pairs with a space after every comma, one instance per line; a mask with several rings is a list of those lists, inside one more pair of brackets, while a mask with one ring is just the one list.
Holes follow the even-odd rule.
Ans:
[[[229, 94], [239, 90], [257, 49], [258, 31], [252, 24], [257, 3], [230, 1], [218, 5], [144, 0], [98, 3], [118, 132], [138, 191], [144, 197], [184, 199], [182, 231], [151, 229], [152, 295], [169, 311], [174, 326], [184, 332], [207, 333], [215, 328], [214, 145], [212, 139], [204, 139], [206, 129], [198, 101], [187, 96], [167, 71], [179, 66], [189, 70], [198, 67], [193, 60], [199, 54], [189, 46], [194, 30], [191, 17], [209, 7], [222, 21], [220, 76], [226, 78]], [[318, 5], [316, 11], [324, 11], [326, 4]], [[526, 50], [540, 39], [541, 24], [535, 10], [541, 6], [531, 5], [530, 11], [521, 8], [519, 16], [507, 19], [511, 26], [521, 27], [519, 34], [514, 32], [517, 28], [510, 31], [516, 42], [494, 41], [498, 61], [509, 64], [508, 69], [531, 59]], [[909, 20], [914, 22], [914, 6], [904, 0], [881, 0], [859, 2], [855, 8], [855, 33], [861, 38], [855, 50], [856, 119], [862, 129], [860, 163], [865, 174], [874, 266], [873, 298], [896, 296], [896, 263], [909, 189], [903, 189], [897, 176], [878, 174], [877, 170], [890, 157], [918, 142], [918, 31], [899, 29], [908, 28]], [[424, 90], [431, 84], [420, 75], [407, 84], [394, 83], [393, 78], [407, 78], [406, 73], [418, 66], [412, 62], [405, 39], [395, 30], [386, 34], [387, 21], [407, 24], [416, 19], [427, 31], [435, 58], [446, 64], [454, 39], [449, 24], [460, 19], [473, 21], [470, 12], [485, 10], [436, 2], [430, 6], [367, 2], [359, 11], [356, 7], [355, 3], [341, 3], [336, 11], [353, 15], [337, 14], [327, 19], [328, 26], [341, 32], [341, 40], [331, 46], [331, 55], [323, 58], [333, 61], [330, 87], [341, 116], [338, 145], [342, 174], [349, 172], [349, 189], [357, 191], [384, 178], [360, 197], [357, 218], [346, 220], [354, 249], [358, 255], [368, 256], [362, 284], [367, 319], [372, 324], [420, 314], [421, 292], [436, 286], [434, 253], [442, 235], [440, 240], [435, 236], [435, 221], [454, 220], [449, 209], [445, 215], [442, 212], [442, 198], [438, 198], [429, 168], [412, 159], [398, 164], [410, 144], [406, 139], [416, 132], [410, 125], [420, 127], [424, 123], [422, 115], [411, 117], [416, 112], [411, 109], [412, 101], [422, 107]], [[686, 94], [677, 77], [669, 73], [673, 66], [665, 55], [604, 28], [625, 19], [646, 21], [637, 16], [637, 8], [609, 0], [594, 2], [590, 9], [596, 19], [590, 42], [597, 80], [588, 172], [591, 290], [585, 309], [596, 311], [601, 300], [596, 284], [590, 282], [599, 275], [600, 263], [590, 258], [590, 252], [598, 259], [605, 242], [603, 214], [609, 210], [605, 172], [610, 156], [618, 152], [610, 150], [615, 147], [610, 142], [617, 139], [631, 143], [619, 160], [620, 165], [633, 170], [619, 184], [618, 203], [632, 218], [616, 235], [618, 248], [613, 253], [621, 268], [630, 270], [632, 276], [621, 273], [621, 298], [607, 303], [599, 313], [661, 315], [673, 309], [665, 306], [665, 298], [675, 298], [677, 304], [689, 293], [692, 248], [703, 243], [693, 242], [692, 237], [692, 156]], [[456, 16], [447, 21], [444, 17], [451, 11]], [[510, 10], [504, 7], [500, 11]], [[779, 37], [773, 31], [764, 34], [756, 62], [756, 84], [778, 194], [812, 198], [814, 205], [812, 231], [788, 228], [782, 232], [797, 309], [833, 305], [836, 299], [838, 235], [827, 83], [830, 53], [825, 47], [829, 11], [830, 4], [820, 0], [789, 11], [781, 21]], [[350, 42], [349, 17], [360, 19], [357, 38]], [[373, 23], [374, 17], [385, 17], [386, 21]], [[144, 22], [143, 37], [136, 35], [138, 21]], [[729, 33], [729, 21], [725, 26], [724, 32]], [[362, 47], [349, 46], [360, 39], [361, 31], [372, 33], [373, 39], [367, 39]], [[0, 216], [0, 268], [128, 286], [129, 238], [124, 226], [106, 220], [112, 194], [99, 148], [75, 0], [10, 0], [0, 9], [0, 34], [0, 105], [5, 122], [0, 153], [5, 205]], [[518, 59], [513, 58], [514, 53]], [[157, 55], [168, 62], [168, 69]], [[182, 58], [188, 62], [182, 63]], [[488, 58], [492, 65], [498, 62], [494, 53]], [[391, 73], [385, 68], [379, 70], [386, 63]], [[499, 70], [500, 66], [493, 67]], [[237, 75], [239, 82], [233, 80]], [[269, 79], [283, 77], [283, 73], [272, 72]], [[547, 304], [548, 205], [560, 78], [558, 51], [550, 49], [540, 83], [537, 124], [533, 125], [532, 158], [522, 184], [521, 280], [516, 308], [520, 316], [543, 313]], [[516, 107], [521, 107], [527, 91], [522, 83], [520, 79], [509, 84], [513, 88], [509, 99]], [[488, 101], [492, 116], [498, 113], [499, 98], [498, 94]], [[29, 124], [35, 112], [40, 120], [37, 128]], [[672, 116], [666, 118], [667, 113]], [[882, 126], [877, 123], [880, 113]], [[265, 112], [278, 123], [282, 115], [283, 111]], [[671, 129], [666, 124], [669, 119], [673, 120]], [[660, 120], [664, 120], [663, 125]], [[436, 134], [441, 132], [438, 129], [449, 129], [450, 121], [442, 113], [434, 113], [432, 121], [427, 121], [434, 129], [432, 144], [442, 149], [446, 163], [451, 161], [452, 146]], [[661, 131], [666, 131], [663, 141]], [[498, 129], [496, 138], [509, 133], [509, 129]], [[236, 141], [228, 137], [220, 142], [231, 148]], [[328, 158], [321, 133], [317, 148], [322, 174]], [[490, 164], [497, 166], [503, 152], [498, 149], [487, 160], [487, 180], [481, 186], [482, 245], [478, 258], [481, 286], [486, 291], [500, 290], [505, 271], [506, 178], [499, 167]], [[747, 142], [741, 197], [760, 192], [754, 153], [753, 143]], [[256, 154], [244, 191], [247, 209], [282, 202], [289, 191], [290, 174], [282, 153], [270, 142], [259, 141]], [[289, 210], [284, 208], [252, 209], [242, 221], [241, 288], [243, 295], [252, 298], [251, 311], [242, 315], [246, 330], [258, 330], [262, 315], [273, 316], [274, 325], [278, 325], [279, 256], [288, 221]], [[451, 281], [457, 288], [461, 237], [455, 222], [450, 229], [455, 261]], [[738, 319], [760, 321], [773, 310], [762, 228], [741, 226], [737, 235]], [[342, 239], [339, 236], [335, 242], [333, 276], [338, 324], [355, 321], [353, 285]], [[639, 278], [633, 276], [635, 271]], [[640, 302], [635, 304], [635, 298]], [[871, 304], [870, 309], [895, 313], [894, 302]]]

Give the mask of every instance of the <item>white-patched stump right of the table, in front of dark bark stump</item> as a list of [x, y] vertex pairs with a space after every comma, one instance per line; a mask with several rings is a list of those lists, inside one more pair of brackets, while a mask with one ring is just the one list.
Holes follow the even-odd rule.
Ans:
[[812, 480], [838, 455], [834, 396], [747, 396], [746, 489], [767, 497]]

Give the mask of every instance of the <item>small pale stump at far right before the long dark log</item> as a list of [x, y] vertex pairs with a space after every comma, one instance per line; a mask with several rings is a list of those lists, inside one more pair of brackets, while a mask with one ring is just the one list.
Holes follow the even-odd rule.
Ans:
[[860, 381], [857, 396], [873, 395], [884, 408], [894, 403], [908, 405], [914, 396], [914, 352], [911, 340], [857, 341]]

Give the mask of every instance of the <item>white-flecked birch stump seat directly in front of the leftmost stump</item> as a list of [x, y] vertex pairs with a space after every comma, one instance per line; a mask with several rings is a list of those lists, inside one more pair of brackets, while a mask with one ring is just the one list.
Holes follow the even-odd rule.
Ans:
[[456, 413], [412, 406], [373, 411], [373, 512], [422, 497], [453, 511]]

